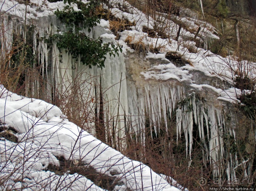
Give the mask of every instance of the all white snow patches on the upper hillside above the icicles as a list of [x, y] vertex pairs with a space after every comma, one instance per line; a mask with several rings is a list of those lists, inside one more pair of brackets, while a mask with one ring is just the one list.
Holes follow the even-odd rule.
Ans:
[[[1, 0], [2, 1], [2, 0]], [[83, 3], [88, 3], [88, 1], [83, 0]], [[55, 3], [49, 3], [46, 0], [31, 0], [30, 5], [27, 6], [27, 17], [29, 20], [33, 19], [40, 19], [41, 17], [48, 17], [49, 15], [54, 15], [54, 12], [57, 9], [63, 9], [67, 3], [64, 4], [63, 1], [58, 1]], [[173, 68], [173, 69], [161, 69], [158, 71], [154, 71], [155, 66], [153, 66], [151, 69], [148, 69], [148, 71], [142, 72], [141, 74], [145, 77], [145, 79], [157, 79], [157, 80], [169, 80], [169, 79], [175, 79], [180, 82], [191, 81], [191, 75], [187, 71], [191, 70], [197, 70], [204, 72], [207, 76], [212, 76], [213, 74], [216, 75], [220, 79], [225, 79], [226, 81], [232, 82], [234, 76], [234, 71], [237, 71], [237, 67], [239, 66], [239, 63], [230, 59], [230, 58], [223, 58], [218, 55], [215, 55], [211, 53], [210, 51], [205, 51], [203, 49], [195, 47], [195, 43], [191, 41], [183, 41], [184, 37], [191, 37], [194, 38], [194, 34], [186, 31], [184, 28], [181, 30], [180, 39], [178, 42], [174, 40], [176, 37], [177, 29], [179, 26], [177, 26], [173, 21], [168, 20], [167, 23], [169, 23], [169, 32], [171, 31], [171, 37], [173, 39], [161, 39], [161, 38], [150, 38], [148, 37], [147, 33], [142, 32], [143, 27], [147, 27], [149, 29], [153, 29], [154, 25], [157, 24], [156, 21], [154, 21], [153, 18], [146, 16], [144, 13], [142, 13], [140, 10], [134, 8], [132, 5], [130, 5], [126, 1], [118, 1], [114, 0], [111, 1], [111, 13], [120, 19], [127, 19], [131, 23], [134, 23], [135, 26], [131, 27], [132, 29], [127, 31], [123, 31], [120, 33], [120, 39], [118, 40], [118, 44], [123, 45], [123, 54], [126, 55], [127, 51], [133, 51], [131, 48], [129, 48], [126, 43], [127, 40], [130, 44], [139, 43], [140, 45], [145, 45], [145, 47], [156, 47], [159, 48], [160, 54], [155, 53], [148, 53], [146, 58], [163, 58], [164, 55], [167, 52], [176, 52], [182, 55], [181, 57], [185, 60], [187, 60], [189, 63], [191, 63], [191, 66], [184, 66], [182, 68]], [[71, 6], [76, 10], [76, 5], [74, 3], [71, 3]], [[103, 5], [104, 7], [109, 7], [106, 5]], [[16, 1], [3, 1], [3, 5], [1, 7], [1, 11], [8, 11], [8, 14], [10, 15], [16, 15], [20, 18], [25, 18], [25, 4], [19, 4]], [[125, 10], [125, 11], [124, 11]], [[186, 10], [185, 10], [186, 12]], [[160, 13], [159, 13], [160, 14]], [[165, 14], [160, 14], [160, 16], [164, 17]], [[174, 17], [174, 15], [171, 15], [171, 17]], [[182, 21], [184, 25], [186, 25], [189, 28], [189, 31], [197, 31], [198, 27], [201, 27], [200, 33], [201, 37], [204, 40], [208, 39], [219, 39], [219, 37], [216, 35], [218, 34], [218, 30], [211, 26], [209, 23], [205, 21], [200, 21], [197, 18], [189, 18], [186, 14], [183, 16], [175, 16], [175, 20]], [[33, 22], [33, 21], [32, 21]], [[110, 34], [109, 31], [109, 21], [101, 20], [99, 24], [97, 24], [97, 27], [104, 28], [104, 31], [102, 31], [101, 35], [93, 35], [95, 37], [101, 36], [104, 38], [106, 42], [112, 41], [115, 42], [115, 36], [113, 34]], [[53, 30], [53, 29], [51, 29]], [[42, 30], [42, 32], [45, 30]], [[50, 28], [47, 29], [48, 33], [51, 33]], [[95, 31], [97, 29], [95, 28]], [[42, 33], [40, 32], [40, 33]], [[54, 30], [53, 30], [54, 33]], [[91, 33], [92, 34], [92, 33]], [[91, 38], [93, 36], [89, 35]], [[181, 38], [182, 37], [182, 38]], [[11, 43], [11, 38], [10, 43]], [[180, 42], [181, 41], [181, 42]], [[44, 42], [39, 42], [40, 46], [38, 47], [42, 49], [44, 52], [42, 54], [42, 60], [47, 58], [47, 45]], [[207, 43], [206, 43], [207, 44]], [[188, 51], [186, 46], [194, 47], [194, 49], [197, 50], [196, 53], [191, 53]], [[47, 60], [46, 60], [47, 62]], [[242, 64], [245, 64], [247, 61], [242, 61]], [[249, 66], [253, 66], [253, 64], [249, 64]], [[47, 63], [46, 63], [47, 66]], [[165, 67], [165, 66], [164, 66]], [[43, 68], [44, 70], [44, 68]], [[255, 76], [255, 68], [245, 68], [244, 71], [248, 76]], [[223, 95], [222, 95], [223, 96]], [[221, 95], [220, 95], [221, 97]], [[231, 101], [229, 99], [225, 99], [226, 101]]]

